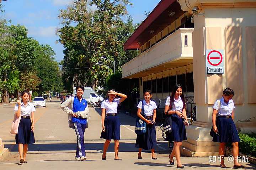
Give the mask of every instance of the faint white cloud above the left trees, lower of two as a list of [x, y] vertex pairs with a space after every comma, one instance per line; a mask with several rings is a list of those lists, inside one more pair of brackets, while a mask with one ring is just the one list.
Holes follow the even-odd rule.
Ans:
[[56, 36], [55, 32], [57, 30], [56, 26], [49, 27], [28, 27], [29, 36], [40, 36], [40, 37], [52, 37]]

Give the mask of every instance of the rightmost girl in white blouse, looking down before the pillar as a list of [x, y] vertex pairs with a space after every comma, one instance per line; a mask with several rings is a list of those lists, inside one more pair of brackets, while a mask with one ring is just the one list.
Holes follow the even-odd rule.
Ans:
[[[232, 143], [233, 145], [233, 156], [234, 156], [234, 166], [233, 168], [244, 168], [244, 165], [238, 163], [236, 159], [238, 157], [239, 149], [238, 142], [240, 138], [238, 136], [238, 131], [234, 124], [234, 102], [232, 97], [234, 96], [234, 91], [230, 88], [223, 90], [222, 98], [217, 100], [213, 106], [212, 122], [213, 122], [213, 141], [219, 142], [219, 155], [224, 155], [226, 143]], [[217, 115], [217, 118], [216, 118]], [[224, 164], [224, 159], [222, 157], [220, 161], [220, 168], [226, 168]]]

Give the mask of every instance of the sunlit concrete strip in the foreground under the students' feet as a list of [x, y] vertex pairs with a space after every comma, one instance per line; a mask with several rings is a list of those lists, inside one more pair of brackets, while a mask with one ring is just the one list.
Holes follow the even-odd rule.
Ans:
[[[107, 159], [101, 160], [101, 152], [90, 152], [86, 154], [86, 161], [75, 161], [73, 153], [59, 154], [28, 154], [28, 163], [19, 164], [18, 154], [11, 154], [9, 159], [0, 162], [0, 169], [152, 169], [170, 170], [176, 169], [175, 165], [169, 164], [168, 154], [156, 154], [157, 160], [151, 159], [151, 153], [142, 153], [143, 159], [137, 158], [137, 152], [121, 152], [119, 157], [122, 160], [114, 160], [114, 153], [108, 152]], [[182, 157], [181, 162], [185, 169], [222, 169], [219, 163], [209, 163], [208, 157]], [[233, 164], [225, 161], [228, 169], [233, 169]], [[246, 164], [245, 169], [255, 169], [255, 166]]]

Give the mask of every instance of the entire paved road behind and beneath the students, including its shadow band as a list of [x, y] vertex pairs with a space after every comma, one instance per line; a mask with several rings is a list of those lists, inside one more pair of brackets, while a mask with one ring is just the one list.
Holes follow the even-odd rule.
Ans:
[[[0, 162], [0, 169], [170, 169], [168, 143], [161, 140], [157, 130], [158, 147], [157, 160], [151, 159], [150, 152], [142, 154], [143, 160], [137, 159], [137, 148], [134, 147], [135, 118], [120, 113], [121, 140], [119, 157], [123, 160], [113, 160], [113, 143], [111, 143], [107, 160], [102, 161], [103, 140], [101, 134], [101, 110], [90, 109], [89, 128], [85, 131], [85, 148], [87, 161], [75, 162], [76, 135], [74, 129], [68, 127], [67, 115], [60, 109], [59, 102], [47, 102], [46, 108], [36, 108], [35, 139], [36, 143], [29, 145], [27, 164], [19, 165], [18, 148], [15, 145], [15, 135], [10, 134], [14, 114], [14, 104], [0, 106], [0, 137], [9, 148], [9, 157]], [[159, 126], [157, 127], [159, 129]], [[186, 169], [217, 169], [219, 163], [209, 164], [208, 157], [182, 157]], [[176, 164], [176, 162], [175, 162]], [[228, 167], [232, 164], [226, 163]], [[173, 166], [175, 167], [175, 166]], [[251, 166], [248, 165], [249, 169]], [[255, 167], [254, 167], [255, 168]], [[219, 168], [220, 169], [220, 168]]]

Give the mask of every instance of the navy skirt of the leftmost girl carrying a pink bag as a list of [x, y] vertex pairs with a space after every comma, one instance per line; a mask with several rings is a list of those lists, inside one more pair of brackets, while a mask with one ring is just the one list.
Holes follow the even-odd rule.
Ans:
[[21, 118], [18, 127], [18, 134], [15, 135], [16, 144], [32, 144], [35, 143], [34, 131], [31, 131], [31, 120]]

